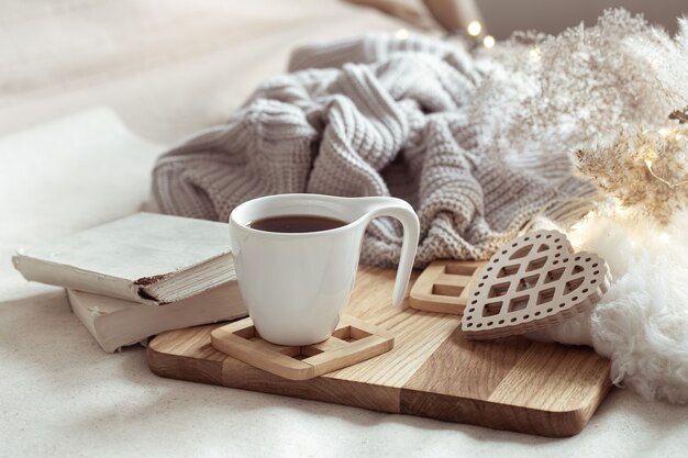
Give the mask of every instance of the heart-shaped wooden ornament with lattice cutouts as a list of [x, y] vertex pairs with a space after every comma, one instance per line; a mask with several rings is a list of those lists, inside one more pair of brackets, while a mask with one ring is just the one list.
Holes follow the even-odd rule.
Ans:
[[530, 232], [485, 265], [469, 292], [462, 331], [487, 339], [555, 325], [599, 302], [610, 281], [607, 261], [574, 253], [566, 235]]

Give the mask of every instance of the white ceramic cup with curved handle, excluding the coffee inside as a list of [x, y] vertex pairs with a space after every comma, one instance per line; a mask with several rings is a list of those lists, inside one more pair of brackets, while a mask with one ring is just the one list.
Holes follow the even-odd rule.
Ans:
[[[252, 228], [257, 220], [312, 215], [347, 224], [329, 231], [277, 233]], [[415, 212], [396, 198], [277, 194], [242, 203], [230, 215], [238, 288], [256, 331], [278, 345], [310, 345], [334, 332], [348, 302], [368, 223], [392, 216], [403, 225], [392, 304], [403, 301], [419, 237]]]

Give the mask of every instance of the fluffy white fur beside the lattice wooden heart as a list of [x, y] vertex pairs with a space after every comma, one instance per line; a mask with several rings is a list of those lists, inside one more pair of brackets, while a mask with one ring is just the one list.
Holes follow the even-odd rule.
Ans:
[[[547, 224], [539, 224], [547, 227]], [[612, 381], [647, 399], [688, 403], [688, 210], [662, 227], [637, 214], [591, 214], [569, 231], [614, 280], [590, 313], [533, 337], [592, 345]]]

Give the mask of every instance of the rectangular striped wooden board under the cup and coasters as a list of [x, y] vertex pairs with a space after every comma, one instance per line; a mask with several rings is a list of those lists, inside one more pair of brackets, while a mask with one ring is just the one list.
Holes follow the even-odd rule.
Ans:
[[392, 270], [362, 267], [347, 314], [390, 331], [395, 348], [357, 365], [292, 381], [215, 350], [209, 325], [163, 333], [148, 346], [160, 376], [471, 423], [543, 436], [572, 436], [610, 389], [609, 360], [587, 347], [523, 337], [473, 342], [460, 315], [390, 305]]

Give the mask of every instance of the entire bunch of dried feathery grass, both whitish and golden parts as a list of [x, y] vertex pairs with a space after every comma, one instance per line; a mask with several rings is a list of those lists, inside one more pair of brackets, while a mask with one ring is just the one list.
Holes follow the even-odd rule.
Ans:
[[[685, 135], [679, 127], [688, 124], [673, 124], [666, 138], [657, 129], [659, 136], [635, 126], [655, 125], [688, 105], [687, 19], [670, 36], [642, 15], [608, 10], [592, 26], [556, 36], [515, 34], [478, 57], [485, 79], [473, 98], [471, 122], [486, 152], [512, 167], [528, 164], [540, 178], [568, 182], [572, 150], [609, 144], [578, 153], [586, 177], [563, 190], [562, 199], [591, 200], [595, 183], [602, 198], [614, 196], [624, 209], [662, 222], [685, 205], [686, 145], [676, 135]], [[673, 119], [688, 121], [688, 108]], [[622, 134], [614, 138], [615, 132]]]

